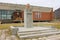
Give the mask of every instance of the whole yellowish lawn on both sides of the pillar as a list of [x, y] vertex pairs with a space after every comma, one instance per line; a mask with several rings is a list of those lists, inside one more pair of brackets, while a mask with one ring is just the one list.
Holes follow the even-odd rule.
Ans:
[[[24, 24], [23, 23], [10, 23], [10, 24], [0, 24], [0, 29], [7, 29], [10, 26], [19, 26], [19, 27], [23, 27]], [[54, 22], [54, 23], [33, 23], [33, 26], [54, 26], [58, 29], [60, 29], [60, 22]]]

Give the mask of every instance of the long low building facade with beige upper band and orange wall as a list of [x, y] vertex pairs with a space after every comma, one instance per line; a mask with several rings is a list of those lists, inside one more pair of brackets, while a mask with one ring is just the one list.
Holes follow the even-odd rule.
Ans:
[[[52, 20], [53, 19], [53, 8], [32, 6], [33, 20]], [[24, 13], [25, 5], [11, 4], [11, 3], [0, 3], [0, 20], [11, 19], [12, 13], [15, 10], [22, 10]], [[24, 14], [22, 17], [24, 18]]]

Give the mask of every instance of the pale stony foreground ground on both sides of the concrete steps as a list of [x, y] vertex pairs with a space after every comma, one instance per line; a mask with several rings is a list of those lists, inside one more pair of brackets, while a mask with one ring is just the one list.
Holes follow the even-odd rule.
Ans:
[[[19, 39], [14, 35], [10, 35], [8, 30], [0, 30], [0, 40], [19, 40]], [[60, 34], [52, 35], [49, 37], [25, 39], [25, 40], [60, 40]]]

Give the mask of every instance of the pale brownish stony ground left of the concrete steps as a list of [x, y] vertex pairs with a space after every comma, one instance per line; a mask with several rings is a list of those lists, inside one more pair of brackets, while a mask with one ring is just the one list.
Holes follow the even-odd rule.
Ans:
[[10, 35], [8, 30], [0, 30], [0, 40], [18, 40], [16, 36]]

